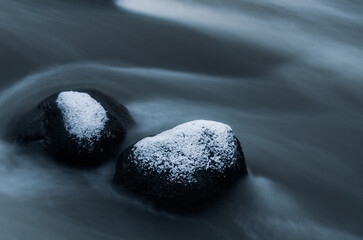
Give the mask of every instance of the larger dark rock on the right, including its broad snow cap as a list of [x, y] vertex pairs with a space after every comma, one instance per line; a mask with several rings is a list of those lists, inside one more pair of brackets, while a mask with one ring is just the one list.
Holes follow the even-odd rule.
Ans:
[[225, 124], [198, 120], [130, 146], [114, 182], [158, 207], [194, 209], [247, 174], [240, 142]]

